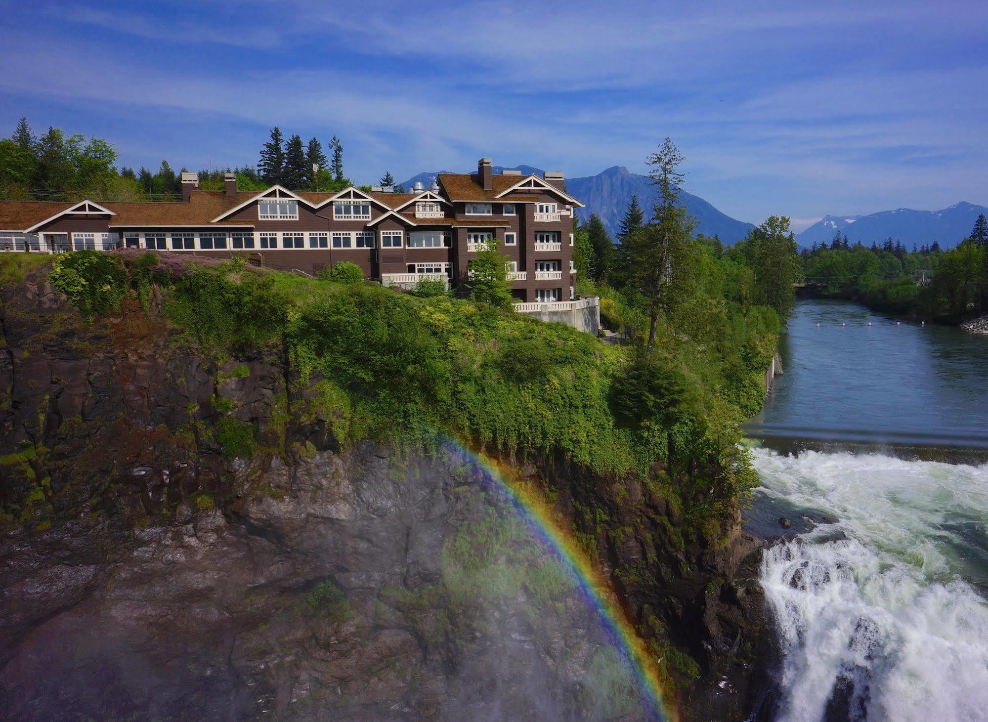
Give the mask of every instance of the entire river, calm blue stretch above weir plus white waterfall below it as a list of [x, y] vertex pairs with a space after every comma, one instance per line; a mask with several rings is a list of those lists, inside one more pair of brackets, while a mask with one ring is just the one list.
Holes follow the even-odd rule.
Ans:
[[988, 719], [988, 337], [807, 300], [781, 348], [749, 425], [780, 646], [762, 714]]

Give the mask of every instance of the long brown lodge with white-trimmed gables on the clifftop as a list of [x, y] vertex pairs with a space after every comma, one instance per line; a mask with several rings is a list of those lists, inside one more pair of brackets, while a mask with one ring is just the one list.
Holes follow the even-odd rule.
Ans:
[[497, 239], [509, 259], [512, 293], [523, 302], [575, 298], [573, 208], [561, 173], [504, 171], [490, 158], [476, 174], [441, 173], [413, 193], [347, 188], [336, 194], [199, 189], [182, 174], [183, 201], [0, 201], [0, 252], [146, 248], [229, 258], [316, 274], [352, 261], [369, 279], [459, 286], [470, 259]]

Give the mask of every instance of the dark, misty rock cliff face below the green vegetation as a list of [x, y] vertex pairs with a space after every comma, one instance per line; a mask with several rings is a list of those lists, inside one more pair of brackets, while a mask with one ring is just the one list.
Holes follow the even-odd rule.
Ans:
[[[87, 324], [40, 273], [3, 288], [2, 332], [5, 716], [645, 714], [469, 454], [345, 447], [277, 351], [203, 356], [134, 299]], [[260, 446], [238, 454], [248, 426]], [[609, 573], [683, 715], [742, 718], [757, 541], [685, 539], [648, 485], [614, 493], [564, 458], [507, 461]]]

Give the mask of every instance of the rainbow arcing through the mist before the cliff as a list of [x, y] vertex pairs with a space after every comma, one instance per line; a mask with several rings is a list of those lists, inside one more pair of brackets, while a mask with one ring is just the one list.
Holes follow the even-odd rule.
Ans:
[[617, 602], [614, 591], [604, 575], [591, 564], [587, 555], [577, 545], [576, 540], [553, 517], [551, 508], [522, 481], [512, 470], [486, 454], [466, 448], [461, 443], [450, 441], [451, 450], [472, 460], [493, 487], [500, 492], [502, 500], [511, 505], [526, 521], [543, 543], [557, 557], [563, 568], [568, 570], [576, 581], [587, 601], [596, 610], [605, 629], [617, 644], [618, 651], [637, 678], [643, 691], [643, 702], [648, 717], [656, 720], [675, 720], [675, 714], [666, 707], [662, 685], [659, 682], [658, 668], [644, 641], [638, 636], [634, 625], [624, 609]]

